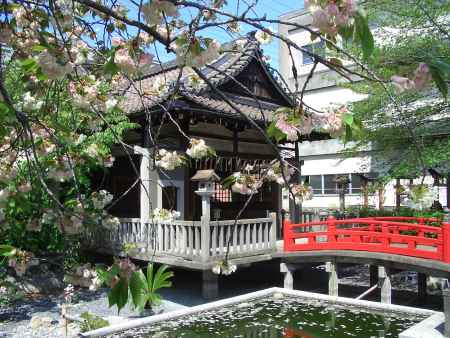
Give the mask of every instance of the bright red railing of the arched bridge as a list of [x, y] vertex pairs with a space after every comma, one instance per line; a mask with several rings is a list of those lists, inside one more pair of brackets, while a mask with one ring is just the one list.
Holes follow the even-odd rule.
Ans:
[[450, 224], [411, 217], [354, 218], [284, 223], [285, 251], [355, 250], [428, 258], [450, 263]]

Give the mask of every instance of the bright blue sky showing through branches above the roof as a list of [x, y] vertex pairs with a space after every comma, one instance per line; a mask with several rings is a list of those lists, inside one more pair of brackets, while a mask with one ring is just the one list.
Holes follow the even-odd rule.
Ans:
[[[126, 7], [130, 8], [130, 6], [127, 6], [127, 2], [129, 0], [122, 0], [119, 1], [122, 4], [124, 4]], [[209, 0], [198, 0], [199, 2], [209, 3]], [[240, 9], [243, 10], [243, 4], [252, 2], [252, 0], [228, 0], [228, 4], [226, 5], [225, 9], [235, 14], [236, 8], [238, 4], [240, 4]], [[129, 3], [128, 3], [129, 4]], [[133, 6], [134, 7], [134, 6]], [[277, 19], [280, 15], [288, 13], [290, 11], [299, 10], [303, 8], [303, 0], [259, 0], [258, 4], [255, 7], [255, 13], [252, 13], [251, 17], [263, 17], [264, 15], [267, 16], [268, 19]], [[131, 13], [129, 13], [131, 14]], [[182, 16], [185, 18], [186, 21], [189, 21], [189, 12], [183, 11]], [[273, 25], [272, 28], [274, 30], [277, 29], [276, 25]], [[242, 27], [242, 33], [248, 32], [250, 30], [255, 30], [252, 27]], [[213, 29], [206, 33], [205, 36], [215, 38], [221, 43], [230, 41], [232, 37], [225, 31], [220, 29]], [[158, 49], [158, 56], [161, 61], [168, 61], [170, 59], [173, 59], [173, 55], [167, 55], [162, 48]], [[154, 53], [154, 51], [152, 51]], [[269, 56], [271, 58], [271, 65], [274, 68], [278, 68], [278, 41], [274, 41], [271, 44], [264, 46], [264, 54]]]

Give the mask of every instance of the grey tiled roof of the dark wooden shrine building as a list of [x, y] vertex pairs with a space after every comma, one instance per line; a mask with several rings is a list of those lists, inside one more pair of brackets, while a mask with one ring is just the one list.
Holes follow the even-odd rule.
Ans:
[[[230, 43], [224, 46], [226, 50], [220, 57], [205, 66], [200, 71], [206, 78], [216, 87], [225, 83], [231, 78], [236, 77], [242, 70], [257, 56], [259, 51], [258, 43], [248, 38], [242, 49], [236, 48], [236, 43]], [[173, 94], [179, 85], [177, 94], [193, 101], [207, 109], [215, 110], [218, 113], [228, 115], [230, 117], [239, 117], [233, 108], [225, 101], [211, 95], [208, 90], [208, 84], [203, 83], [199, 88], [192, 88], [188, 83], [188, 69], [184, 68], [182, 74], [181, 69], [177, 67], [174, 61], [155, 65], [140, 80], [134, 80], [122, 84], [122, 93], [124, 99], [121, 108], [129, 113], [139, 113], [146, 109], [156, 108], [158, 104], [163, 104], [167, 98]], [[156, 95], [152, 91], [153, 84], [159, 78], [164, 78], [169, 90], [164, 94]], [[179, 80], [179, 81], [178, 81]], [[242, 110], [243, 113], [257, 120], [267, 120], [272, 116], [273, 111], [278, 105], [254, 100], [252, 98], [242, 98], [230, 96], [230, 101]], [[261, 109], [262, 108], [262, 109]]]

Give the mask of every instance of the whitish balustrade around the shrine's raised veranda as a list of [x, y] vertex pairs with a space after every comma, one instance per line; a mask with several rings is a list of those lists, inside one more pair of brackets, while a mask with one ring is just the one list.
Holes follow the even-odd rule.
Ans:
[[111, 254], [122, 254], [126, 244], [135, 244], [132, 251], [140, 258], [167, 255], [204, 263], [219, 260], [227, 252], [230, 258], [259, 255], [276, 250], [276, 214], [237, 222], [202, 219], [142, 224], [139, 218], [126, 218], [116, 230], [88, 233], [86, 244]]

